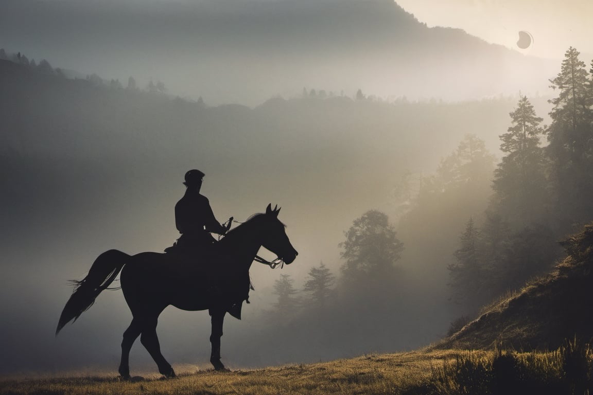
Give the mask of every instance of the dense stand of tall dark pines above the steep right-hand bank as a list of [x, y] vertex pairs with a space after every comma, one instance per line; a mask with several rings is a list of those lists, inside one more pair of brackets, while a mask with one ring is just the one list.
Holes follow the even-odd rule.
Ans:
[[521, 95], [500, 134], [490, 207], [482, 223], [467, 220], [448, 267], [452, 299], [467, 313], [547, 271], [556, 242], [593, 219], [593, 61], [587, 70], [570, 47], [549, 81], [551, 124]]

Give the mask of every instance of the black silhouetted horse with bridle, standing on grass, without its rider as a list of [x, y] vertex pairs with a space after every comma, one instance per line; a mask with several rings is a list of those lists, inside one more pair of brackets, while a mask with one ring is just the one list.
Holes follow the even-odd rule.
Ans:
[[133, 317], [123, 333], [118, 369], [122, 378], [130, 378], [129, 353], [138, 336], [158, 371], [165, 377], [175, 377], [175, 371], [161, 354], [156, 331], [158, 316], [169, 305], [187, 311], [208, 310], [212, 323], [210, 362], [215, 370], [225, 370], [220, 355], [224, 316], [229, 312], [241, 318], [241, 306], [251, 286], [248, 271], [254, 259], [259, 258], [256, 254], [260, 247], [278, 256], [274, 262], [287, 265], [298, 255], [286, 235], [285, 225], [278, 220], [277, 207], [272, 209], [269, 204], [265, 213], [254, 214], [230, 230], [211, 253], [190, 266], [180, 265], [180, 257], [171, 253], [128, 255], [115, 249], [102, 253], [87, 277], [73, 281], [76, 287], [62, 311], [56, 336], [66, 323], [88, 310], [121, 271], [120, 288]]

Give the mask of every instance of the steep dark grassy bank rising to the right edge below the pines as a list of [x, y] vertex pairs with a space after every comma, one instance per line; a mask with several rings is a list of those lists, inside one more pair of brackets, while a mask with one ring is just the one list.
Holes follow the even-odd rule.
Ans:
[[557, 348], [593, 336], [593, 224], [562, 242], [568, 256], [546, 277], [492, 304], [437, 348]]

